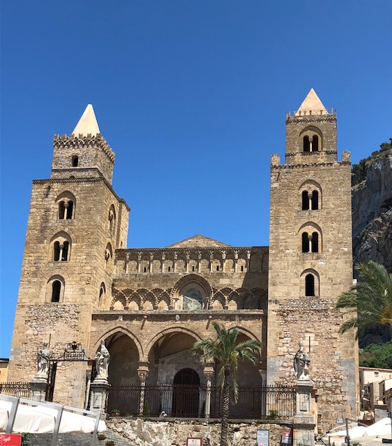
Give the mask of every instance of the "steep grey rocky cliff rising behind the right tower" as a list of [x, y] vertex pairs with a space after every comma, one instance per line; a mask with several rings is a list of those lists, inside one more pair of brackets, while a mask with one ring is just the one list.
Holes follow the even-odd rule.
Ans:
[[369, 260], [392, 272], [392, 150], [370, 157], [365, 179], [352, 188], [355, 263]]

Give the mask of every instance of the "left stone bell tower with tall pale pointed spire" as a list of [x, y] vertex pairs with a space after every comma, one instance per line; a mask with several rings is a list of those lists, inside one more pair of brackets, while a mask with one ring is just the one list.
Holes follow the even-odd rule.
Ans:
[[31, 381], [36, 353], [58, 360], [54, 401], [84, 406], [87, 362], [63, 360], [75, 341], [89, 352], [91, 314], [107, 306], [115, 249], [126, 247], [128, 205], [112, 189], [114, 152], [88, 105], [70, 136], [54, 136], [52, 174], [33, 180], [8, 379]]

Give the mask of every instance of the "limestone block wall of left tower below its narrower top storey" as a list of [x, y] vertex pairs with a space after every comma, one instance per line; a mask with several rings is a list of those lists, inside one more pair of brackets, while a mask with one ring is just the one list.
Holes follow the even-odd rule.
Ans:
[[[60, 218], [59, 202], [73, 201], [70, 218]], [[118, 231], [110, 231], [109, 210], [123, 214]], [[65, 344], [89, 345], [91, 313], [98, 307], [102, 284], [112, 288], [113, 254], [117, 240], [126, 244], [129, 208], [104, 178], [35, 180], [27, 225], [20, 292], [10, 351], [8, 380], [32, 380], [36, 352], [50, 342], [53, 357]], [[116, 222], [118, 224], [118, 222]], [[66, 259], [54, 260], [54, 243], [68, 241]], [[107, 256], [108, 246], [111, 256]], [[53, 283], [61, 282], [59, 301], [52, 302]], [[84, 366], [86, 369], [86, 364]], [[70, 369], [64, 369], [64, 373]], [[72, 376], [63, 379], [74, 383]], [[57, 376], [59, 379], [59, 375]], [[85, 372], [75, 392], [68, 392], [80, 406], [84, 402]], [[60, 382], [60, 381], [58, 381]], [[56, 390], [55, 390], [56, 394]], [[65, 396], [62, 396], [66, 398]]]

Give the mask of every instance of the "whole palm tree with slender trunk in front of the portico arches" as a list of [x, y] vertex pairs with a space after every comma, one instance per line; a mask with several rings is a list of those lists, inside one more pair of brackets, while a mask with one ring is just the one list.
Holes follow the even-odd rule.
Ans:
[[236, 382], [236, 371], [239, 360], [249, 360], [253, 364], [256, 362], [255, 353], [262, 348], [262, 344], [255, 339], [236, 343], [239, 330], [232, 328], [226, 330], [223, 325], [212, 323], [216, 331], [217, 339], [202, 339], [195, 342], [193, 352], [199, 353], [200, 362], [203, 365], [216, 360], [218, 362], [218, 385], [222, 387], [222, 426], [220, 431], [220, 446], [227, 445], [227, 432], [229, 427], [229, 402], [230, 395], [234, 401], [238, 399], [238, 387]]

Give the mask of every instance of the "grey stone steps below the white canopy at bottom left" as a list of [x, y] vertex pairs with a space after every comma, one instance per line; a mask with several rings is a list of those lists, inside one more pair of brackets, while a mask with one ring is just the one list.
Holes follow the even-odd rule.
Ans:
[[[107, 440], [113, 440], [114, 446], [130, 446], [133, 445], [129, 440], [119, 436], [112, 431], [103, 432], [106, 436], [105, 440], [96, 438], [95, 446], [106, 446]], [[31, 446], [50, 446], [52, 443], [52, 433], [31, 433], [29, 436]], [[90, 446], [91, 433], [59, 433], [56, 445], [58, 446]]]

